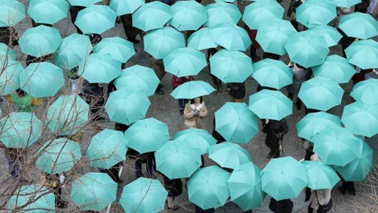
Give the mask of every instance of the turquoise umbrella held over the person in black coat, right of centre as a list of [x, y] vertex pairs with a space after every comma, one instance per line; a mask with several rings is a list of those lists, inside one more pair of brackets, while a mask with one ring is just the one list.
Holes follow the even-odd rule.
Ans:
[[281, 120], [293, 113], [293, 101], [280, 91], [264, 89], [249, 96], [249, 109], [261, 119]]

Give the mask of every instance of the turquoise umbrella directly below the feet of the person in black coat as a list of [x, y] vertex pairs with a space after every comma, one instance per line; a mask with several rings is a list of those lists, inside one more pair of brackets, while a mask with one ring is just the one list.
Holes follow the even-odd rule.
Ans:
[[306, 168], [291, 156], [271, 159], [261, 171], [261, 183], [277, 201], [296, 198], [308, 183]]

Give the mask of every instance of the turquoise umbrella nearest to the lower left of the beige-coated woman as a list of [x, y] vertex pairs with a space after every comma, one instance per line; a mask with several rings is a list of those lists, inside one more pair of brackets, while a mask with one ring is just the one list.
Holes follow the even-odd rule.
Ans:
[[155, 118], [136, 121], [125, 131], [125, 140], [141, 154], [157, 151], [169, 140], [168, 125]]

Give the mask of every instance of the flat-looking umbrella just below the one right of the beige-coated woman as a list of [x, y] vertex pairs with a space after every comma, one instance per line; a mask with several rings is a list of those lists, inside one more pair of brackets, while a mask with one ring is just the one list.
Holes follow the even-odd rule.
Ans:
[[223, 142], [209, 147], [209, 158], [222, 168], [235, 168], [252, 161], [251, 154], [239, 145]]

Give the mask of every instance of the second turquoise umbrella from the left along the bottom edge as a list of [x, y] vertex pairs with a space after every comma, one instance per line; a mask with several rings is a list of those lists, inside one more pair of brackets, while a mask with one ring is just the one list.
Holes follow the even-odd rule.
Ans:
[[80, 210], [101, 211], [116, 200], [117, 186], [107, 173], [87, 173], [72, 182], [70, 198]]

